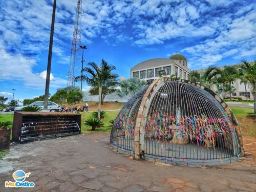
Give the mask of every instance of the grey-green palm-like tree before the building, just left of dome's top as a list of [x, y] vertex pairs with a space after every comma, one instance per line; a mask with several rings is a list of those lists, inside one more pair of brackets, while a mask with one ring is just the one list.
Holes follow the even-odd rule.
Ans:
[[146, 86], [145, 80], [140, 80], [139, 78], [124, 79], [119, 82], [121, 89], [116, 91], [119, 97], [124, 97], [125, 95], [133, 96], [139, 90]]

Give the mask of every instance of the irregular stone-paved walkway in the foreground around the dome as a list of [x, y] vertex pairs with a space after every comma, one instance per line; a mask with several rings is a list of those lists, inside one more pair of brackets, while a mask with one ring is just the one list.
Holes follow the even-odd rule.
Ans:
[[[0, 160], [0, 191], [256, 191], [256, 138], [242, 161], [215, 167], [171, 166], [113, 152], [110, 134], [15, 144]], [[5, 188], [17, 169], [34, 188]]]

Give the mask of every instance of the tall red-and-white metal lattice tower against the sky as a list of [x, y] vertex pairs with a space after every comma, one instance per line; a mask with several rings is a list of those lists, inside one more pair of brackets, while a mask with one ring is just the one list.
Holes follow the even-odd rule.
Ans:
[[81, 52], [79, 49], [79, 45], [81, 45], [81, 18], [82, 18], [81, 13], [82, 13], [82, 0], [78, 0], [77, 8], [76, 8], [76, 18], [75, 18], [73, 39], [72, 39], [67, 87], [74, 86], [75, 63], [76, 63], [76, 60], [80, 57], [80, 52]]

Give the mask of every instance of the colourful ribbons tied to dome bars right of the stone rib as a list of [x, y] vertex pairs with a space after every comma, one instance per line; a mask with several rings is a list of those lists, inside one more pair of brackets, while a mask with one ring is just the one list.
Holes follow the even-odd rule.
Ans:
[[234, 126], [228, 118], [153, 114], [145, 118], [145, 136], [157, 140], [183, 139], [197, 144], [209, 141], [215, 146], [217, 137], [231, 139]]

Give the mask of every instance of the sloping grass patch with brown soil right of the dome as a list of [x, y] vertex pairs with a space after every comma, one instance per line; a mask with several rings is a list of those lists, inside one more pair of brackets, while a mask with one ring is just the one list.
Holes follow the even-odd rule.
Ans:
[[229, 107], [238, 119], [242, 134], [244, 136], [256, 137], [256, 117], [253, 117], [253, 108]]

